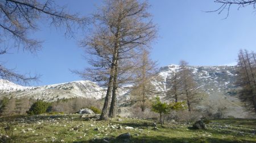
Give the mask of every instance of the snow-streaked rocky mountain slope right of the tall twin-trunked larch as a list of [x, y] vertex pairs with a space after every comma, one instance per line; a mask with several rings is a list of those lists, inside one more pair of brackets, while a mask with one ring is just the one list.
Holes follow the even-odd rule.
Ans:
[[[199, 109], [205, 109], [207, 106], [215, 106], [216, 109], [225, 108], [226, 114], [238, 118], [248, 114], [237, 97], [236, 66], [189, 66], [188, 68], [193, 73], [197, 89], [201, 91], [201, 102], [197, 105]], [[163, 93], [168, 90], [168, 78], [179, 69], [180, 67], [175, 64], [160, 68], [160, 79], [153, 82], [158, 90]]]

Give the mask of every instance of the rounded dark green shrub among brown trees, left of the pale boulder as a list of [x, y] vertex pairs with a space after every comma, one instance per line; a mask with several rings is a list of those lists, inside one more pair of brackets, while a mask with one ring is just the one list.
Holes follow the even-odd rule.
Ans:
[[30, 110], [27, 111], [27, 114], [29, 115], [43, 114], [44, 112], [49, 111], [50, 108], [51, 108], [51, 103], [38, 100], [31, 105]]

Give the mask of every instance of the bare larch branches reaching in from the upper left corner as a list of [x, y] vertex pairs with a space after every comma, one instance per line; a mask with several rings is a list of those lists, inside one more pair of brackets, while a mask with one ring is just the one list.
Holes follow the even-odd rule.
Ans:
[[[53, 1], [3, 0], [0, 1], [0, 55], [7, 54], [12, 47], [35, 53], [40, 50], [42, 41], [28, 37], [28, 33], [39, 29], [38, 21], [48, 20], [49, 25], [66, 28], [65, 34], [72, 36], [75, 25], [88, 24], [88, 18], [78, 14], [68, 14], [65, 7], [57, 6]], [[9, 45], [9, 46], [5, 46]], [[0, 64], [0, 78], [21, 81], [36, 80], [38, 76], [22, 75]]]

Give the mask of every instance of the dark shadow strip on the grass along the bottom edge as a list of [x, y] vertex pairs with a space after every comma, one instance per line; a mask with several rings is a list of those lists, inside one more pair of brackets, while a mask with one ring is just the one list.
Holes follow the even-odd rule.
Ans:
[[[90, 140], [90, 143], [101, 143], [104, 142], [104, 139], [102, 140]], [[132, 137], [130, 140], [118, 140], [118, 139], [112, 139], [109, 140], [109, 142], [112, 143], [121, 143], [121, 142], [141, 142], [141, 143], [255, 143], [255, 141], [249, 141], [249, 140], [236, 140], [235, 138], [230, 139], [220, 139], [220, 138], [212, 138], [212, 137], [197, 137], [197, 138], [186, 138], [186, 137], [180, 137], [180, 138], [174, 138], [174, 137], [165, 137], [165, 136], [141, 136], [141, 137]]]

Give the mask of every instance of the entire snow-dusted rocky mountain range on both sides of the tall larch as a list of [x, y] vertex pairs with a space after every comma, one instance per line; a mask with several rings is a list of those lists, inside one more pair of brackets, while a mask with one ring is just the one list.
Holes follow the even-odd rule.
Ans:
[[[207, 106], [223, 106], [230, 115], [245, 116], [242, 103], [236, 96], [236, 67], [235, 66], [189, 66], [197, 83], [197, 88], [203, 93], [203, 101], [197, 107], [204, 109]], [[160, 79], [152, 81], [156, 89], [162, 92], [158, 96], [164, 97], [168, 89], [168, 78], [179, 71], [179, 66], [170, 64], [159, 70]], [[28, 97], [55, 101], [63, 98], [95, 98], [105, 96], [105, 88], [92, 81], [73, 81], [46, 86], [20, 86], [9, 81], [0, 80], [0, 97]], [[129, 89], [119, 89], [119, 105], [129, 101]]]

